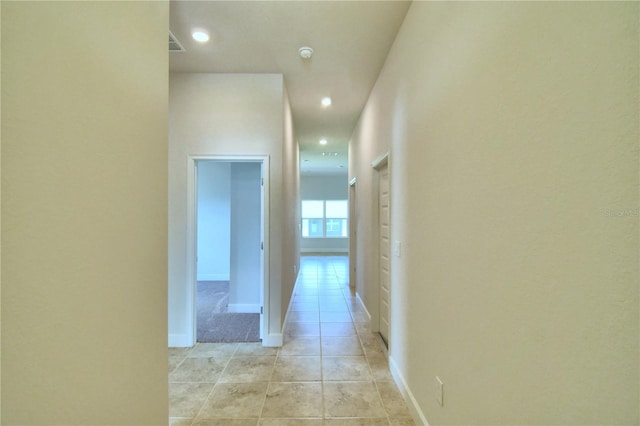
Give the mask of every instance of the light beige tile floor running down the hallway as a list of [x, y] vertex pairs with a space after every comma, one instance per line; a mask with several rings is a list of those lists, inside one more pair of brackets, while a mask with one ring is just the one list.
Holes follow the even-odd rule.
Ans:
[[346, 257], [303, 257], [284, 346], [169, 350], [171, 426], [413, 425]]

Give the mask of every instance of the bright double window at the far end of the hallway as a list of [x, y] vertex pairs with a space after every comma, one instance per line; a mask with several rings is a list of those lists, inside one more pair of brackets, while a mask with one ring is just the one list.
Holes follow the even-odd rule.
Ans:
[[346, 238], [349, 218], [347, 200], [303, 200], [302, 236]]

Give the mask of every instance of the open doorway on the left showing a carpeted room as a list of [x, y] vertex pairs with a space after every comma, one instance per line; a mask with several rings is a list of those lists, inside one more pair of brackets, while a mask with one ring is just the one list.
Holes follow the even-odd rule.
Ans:
[[265, 329], [265, 161], [192, 161], [196, 341], [260, 341]]

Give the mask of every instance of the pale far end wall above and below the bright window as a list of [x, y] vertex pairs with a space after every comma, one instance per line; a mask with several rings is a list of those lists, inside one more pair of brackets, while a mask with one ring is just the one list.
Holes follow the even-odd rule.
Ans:
[[[349, 183], [347, 175], [302, 175], [300, 198], [302, 200], [347, 200]], [[348, 253], [348, 238], [300, 239], [302, 253]]]

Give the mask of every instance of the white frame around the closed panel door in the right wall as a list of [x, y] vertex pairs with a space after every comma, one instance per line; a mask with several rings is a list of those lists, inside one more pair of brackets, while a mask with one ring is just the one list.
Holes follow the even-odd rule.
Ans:
[[[374, 308], [371, 310], [371, 331], [374, 333], [380, 332], [380, 169], [387, 166], [387, 173], [389, 175], [389, 243], [391, 244], [391, 162], [389, 161], [389, 151], [380, 154], [375, 160], [371, 162], [371, 167], [374, 170], [373, 177], [373, 238], [375, 244], [373, 244], [373, 258], [375, 259], [373, 272], [373, 282], [376, 283], [374, 293]], [[389, 247], [391, 251], [391, 247]], [[388, 344], [391, 341], [391, 253], [389, 253], [389, 336]], [[378, 334], [379, 335], [379, 334]], [[380, 337], [380, 340], [382, 338]], [[384, 345], [386, 349], [388, 347]]]

